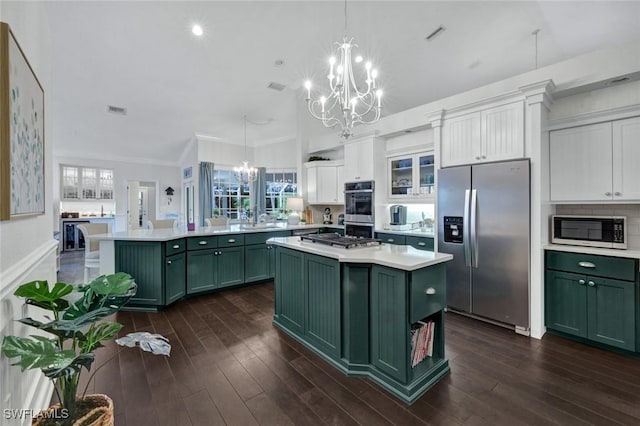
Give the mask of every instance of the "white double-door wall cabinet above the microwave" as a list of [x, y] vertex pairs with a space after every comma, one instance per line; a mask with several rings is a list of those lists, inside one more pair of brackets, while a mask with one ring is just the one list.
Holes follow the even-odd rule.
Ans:
[[640, 117], [550, 132], [552, 201], [640, 200]]

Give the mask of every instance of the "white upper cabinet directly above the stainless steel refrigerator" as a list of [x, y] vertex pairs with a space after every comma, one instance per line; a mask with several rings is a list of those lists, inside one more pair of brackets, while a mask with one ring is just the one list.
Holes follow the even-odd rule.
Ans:
[[524, 103], [445, 117], [440, 152], [442, 167], [524, 157]]

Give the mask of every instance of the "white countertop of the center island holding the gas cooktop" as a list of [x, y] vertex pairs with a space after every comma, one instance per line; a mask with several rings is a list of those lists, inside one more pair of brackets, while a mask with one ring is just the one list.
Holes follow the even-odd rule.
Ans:
[[415, 271], [453, 259], [450, 254], [418, 250], [406, 245], [381, 244], [373, 247], [345, 249], [311, 241], [301, 241], [300, 237], [270, 238], [268, 242], [293, 250], [337, 259], [343, 263], [374, 263], [405, 271]]

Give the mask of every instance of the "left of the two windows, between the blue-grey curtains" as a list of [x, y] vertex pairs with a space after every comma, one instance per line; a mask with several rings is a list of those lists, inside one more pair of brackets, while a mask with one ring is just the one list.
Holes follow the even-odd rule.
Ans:
[[229, 219], [246, 219], [250, 185], [241, 185], [233, 170], [213, 171], [213, 214]]

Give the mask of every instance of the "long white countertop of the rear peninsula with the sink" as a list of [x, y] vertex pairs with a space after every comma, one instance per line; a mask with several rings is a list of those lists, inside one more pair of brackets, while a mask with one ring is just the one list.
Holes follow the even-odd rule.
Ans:
[[147, 229], [139, 229], [128, 232], [112, 232], [109, 234], [97, 234], [92, 235], [99, 241], [169, 241], [176, 238], [187, 237], [202, 237], [212, 235], [228, 235], [228, 234], [247, 234], [253, 232], [275, 232], [275, 231], [287, 231], [287, 230], [308, 230], [310, 232], [316, 231], [318, 228], [335, 227], [333, 225], [311, 224], [311, 225], [289, 225], [286, 223], [277, 223], [271, 226], [265, 225], [230, 225], [230, 226], [211, 226], [196, 228], [195, 231], [184, 231], [175, 229], [154, 229], [153, 231]]

